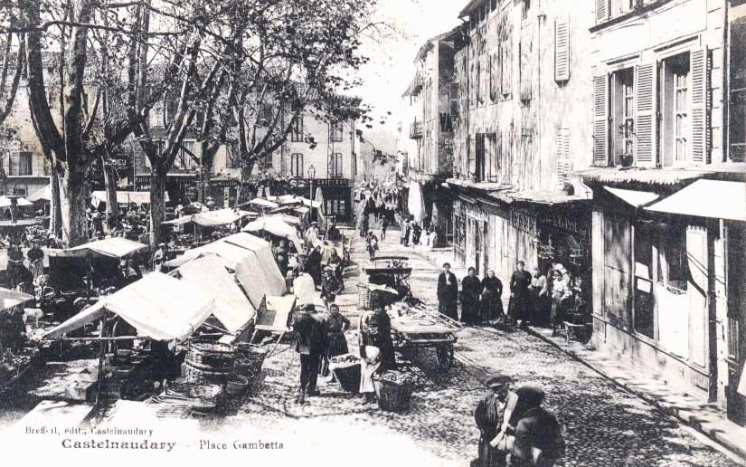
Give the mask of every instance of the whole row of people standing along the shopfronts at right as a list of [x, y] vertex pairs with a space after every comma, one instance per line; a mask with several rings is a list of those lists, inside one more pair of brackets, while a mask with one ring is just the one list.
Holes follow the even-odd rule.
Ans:
[[[556, 332], [568, 312], [579, 310], [584, 303], [581, 278], [560, 263], [553, 263], [545, 275], [538, 267], [531, 273], [525, 270], [523, 261], [516, 262], [509, 291], [507, 317], [522, 329], [531, 322], [534, 326], [551, 326]], [[503, 282], [495, 271], [487, 270], [486, 276], [479, 279], [475, 268], [468, 268], [467, 276], [458, 281], [450, 272], [450, 264], [443, 264], [438, 278], [439, 311], [449, 318], [459, 319], [460, 302], [460, 320], [464, 323], [499, 319], [505, 315], [502, 296]]]

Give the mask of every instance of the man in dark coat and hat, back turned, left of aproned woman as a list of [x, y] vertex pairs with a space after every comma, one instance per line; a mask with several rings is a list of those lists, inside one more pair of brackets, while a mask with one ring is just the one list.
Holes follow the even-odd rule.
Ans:
[[300, 355], [300, 390], [298, 402], [304, 396], [317, 396], [316, 379], [321, 355], [326, 350], [326, 329], [321, 317], [316, 316], [314, 306], [307, 304], [297, 313], [293, 322], [296, 338], [296, 352]]

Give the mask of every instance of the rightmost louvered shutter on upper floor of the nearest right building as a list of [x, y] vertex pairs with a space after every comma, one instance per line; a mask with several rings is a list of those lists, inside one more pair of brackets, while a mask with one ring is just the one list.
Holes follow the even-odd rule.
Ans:
[[692, 73], [692, 162], [695, 165], [705, 164], [710, 146], [708, 138], [708, 72], [707, 51], [700, 49], [692, 52], [690, 66]]

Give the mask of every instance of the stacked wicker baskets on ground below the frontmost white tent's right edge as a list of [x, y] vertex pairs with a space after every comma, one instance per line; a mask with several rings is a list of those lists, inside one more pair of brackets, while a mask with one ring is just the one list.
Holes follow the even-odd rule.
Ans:
[[224, 384], [236, 361], [235, 349], [218, 342], [194, 340], [184, 358], [183, 376], [190, 383]]

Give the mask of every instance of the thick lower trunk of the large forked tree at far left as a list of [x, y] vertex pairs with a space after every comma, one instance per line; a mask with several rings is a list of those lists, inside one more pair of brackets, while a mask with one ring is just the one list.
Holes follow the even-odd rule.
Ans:
[[89, 241], [86, 185], [83, 167], [66, 166], [61, 177], [62, 239], [71, 247]]

